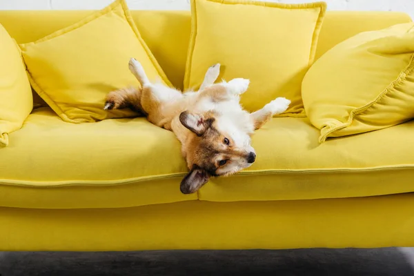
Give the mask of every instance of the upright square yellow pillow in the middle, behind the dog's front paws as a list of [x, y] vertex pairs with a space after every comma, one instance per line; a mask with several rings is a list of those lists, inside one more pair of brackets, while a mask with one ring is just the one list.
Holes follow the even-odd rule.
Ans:
[[185, 88], [199, 88], [207, 68], [221, 63], [219, 79], [250, 79], [241, 98], [247, 110], [286, 97], [292, 103], [284, 116], [304, 116], [301, 84], [315, 57], [326, 3], [192, 0], [191, 10]]

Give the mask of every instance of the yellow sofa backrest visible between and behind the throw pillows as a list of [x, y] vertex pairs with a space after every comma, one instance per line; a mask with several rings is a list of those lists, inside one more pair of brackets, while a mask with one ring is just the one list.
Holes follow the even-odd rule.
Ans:
[[[86, 17], [88, 10], [0, 11], [0, 23], [17, 43], [40, 39]], [[190, 12], [132, 10], [132, 17], [166, 75], [182, 88], [190, 37]], [[316, 56], [359, 32], [410, 22], [401, 12], [327, 12]], [[284, 26], [282, 26], [284, 28]], [[272, 26], [270, 28], [277, 28]]]

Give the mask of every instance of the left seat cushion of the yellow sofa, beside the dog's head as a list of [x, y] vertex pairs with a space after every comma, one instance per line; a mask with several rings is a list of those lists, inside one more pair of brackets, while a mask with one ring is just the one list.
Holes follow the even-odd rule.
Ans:
[[70, 124], [39, 108], [0, 149], [0, 206], [105, 208], [196, 199], [182, 195], [179, 141], [145, 118]]

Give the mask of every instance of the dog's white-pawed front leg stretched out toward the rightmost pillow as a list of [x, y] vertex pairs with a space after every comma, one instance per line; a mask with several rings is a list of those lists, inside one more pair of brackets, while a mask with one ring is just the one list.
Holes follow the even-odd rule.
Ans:
[[289, 107], [290, 101], [286, 98], [279, 97], [270, 101], [264, 108], [259, 109], [250, 114], [250, 119], [253, 121], [255, 130], [262, 128], [273, 115], [278, 115], [285, 112]]

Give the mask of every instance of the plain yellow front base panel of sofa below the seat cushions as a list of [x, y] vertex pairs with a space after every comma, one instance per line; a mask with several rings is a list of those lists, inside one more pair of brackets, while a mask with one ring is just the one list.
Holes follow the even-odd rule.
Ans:
[[414, 246], [414, 195], [136, 208], [0, 208], [0, 250]]

